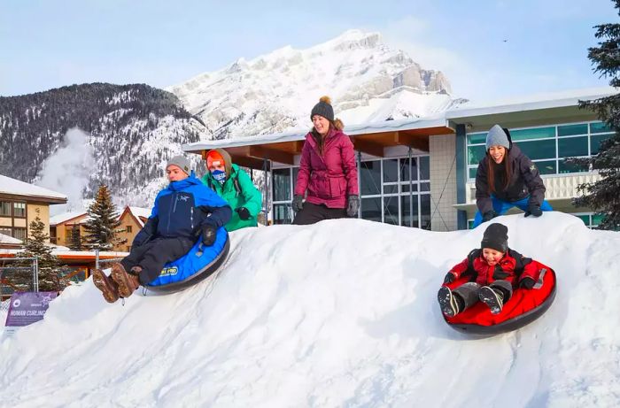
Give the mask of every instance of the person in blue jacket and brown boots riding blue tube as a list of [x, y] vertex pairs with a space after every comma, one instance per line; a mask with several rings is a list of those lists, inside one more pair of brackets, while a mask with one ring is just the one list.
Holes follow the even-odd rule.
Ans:
[[170, 184], [159, 191], [129, 255], [112, 264], [109, 277], [100, 269], [93, 273], [95, 286], [109, 303], [157, 279], [163, 266], [188, 253], [198, 236], [206, 246], [213, 245], [217, 228], [229, 222], [229, 204], [198, 180], [190, 160], [171, 158], [166, 173]]

